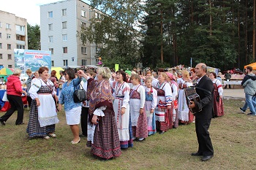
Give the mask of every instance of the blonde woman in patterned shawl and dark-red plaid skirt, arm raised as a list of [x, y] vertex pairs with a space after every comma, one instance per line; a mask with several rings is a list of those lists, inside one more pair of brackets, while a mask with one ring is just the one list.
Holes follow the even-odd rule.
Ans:
[[97, 70], [97, 80], [87, 77], [81, 70], [78, 74], [88, 81], [89, 121], [96, 125], [91, 141], [91, 152], [102, 161], [108, 161], [110, 158], [121, 155], [113, 110], [112, 88], [109, 82], [110, 69], [100, 67]]

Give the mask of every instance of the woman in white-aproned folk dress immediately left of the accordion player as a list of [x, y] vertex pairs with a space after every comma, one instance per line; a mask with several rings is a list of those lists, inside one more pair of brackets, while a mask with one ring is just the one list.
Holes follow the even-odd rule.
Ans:
[[194, 115], [189, 111], [189, 107], [187, 106], [187, 97], [184, 91], [184, 88], [189, 88], [192, 86], [192, 82], [189, 79], [189, 72], [187, 70], [183, 70], [181, 72], [182, 77], [177, 80], [178, 84], [178, 119], [183, 124], [192, 123], [194, 120]]

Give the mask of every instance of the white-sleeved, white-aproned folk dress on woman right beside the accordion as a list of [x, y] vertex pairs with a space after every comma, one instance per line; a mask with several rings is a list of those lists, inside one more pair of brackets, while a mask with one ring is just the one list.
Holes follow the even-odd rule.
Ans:
[[[187, 85], [187, 87], [192, 86], [192, 82], [186, 82], [183, 78], [177, 80], [177, 84]], [[181, 86], [182, 86], [181, 85]], [[187, 99], [185, 91], [183, 88], [180, 88], [178, 91], [178, 119], [182, 122], [191, 123], [193, 121], [193, 115], [189, 117], [189, 107], [187, 105]]]

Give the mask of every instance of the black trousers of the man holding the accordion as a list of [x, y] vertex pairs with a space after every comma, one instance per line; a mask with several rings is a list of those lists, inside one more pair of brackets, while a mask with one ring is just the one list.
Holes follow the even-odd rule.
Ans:
[[195, 131], [197, 133], [197, 142], [199, 144], [198, 151], [203, 156], [214, 155], [214, 148], [211, 144], [208, 128], [210, 127], [211, 119], [201, 120], [195, 117]]

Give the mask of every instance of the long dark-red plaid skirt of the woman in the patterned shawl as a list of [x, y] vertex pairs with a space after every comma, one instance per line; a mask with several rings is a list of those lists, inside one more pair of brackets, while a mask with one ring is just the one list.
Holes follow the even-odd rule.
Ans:
[[94, 143], [91, 152], [100, 158], [113, 158], [121, 155], [115, 113], [112, 108], [104, 111], [105, 116], [99, 119], [94, 132]]

